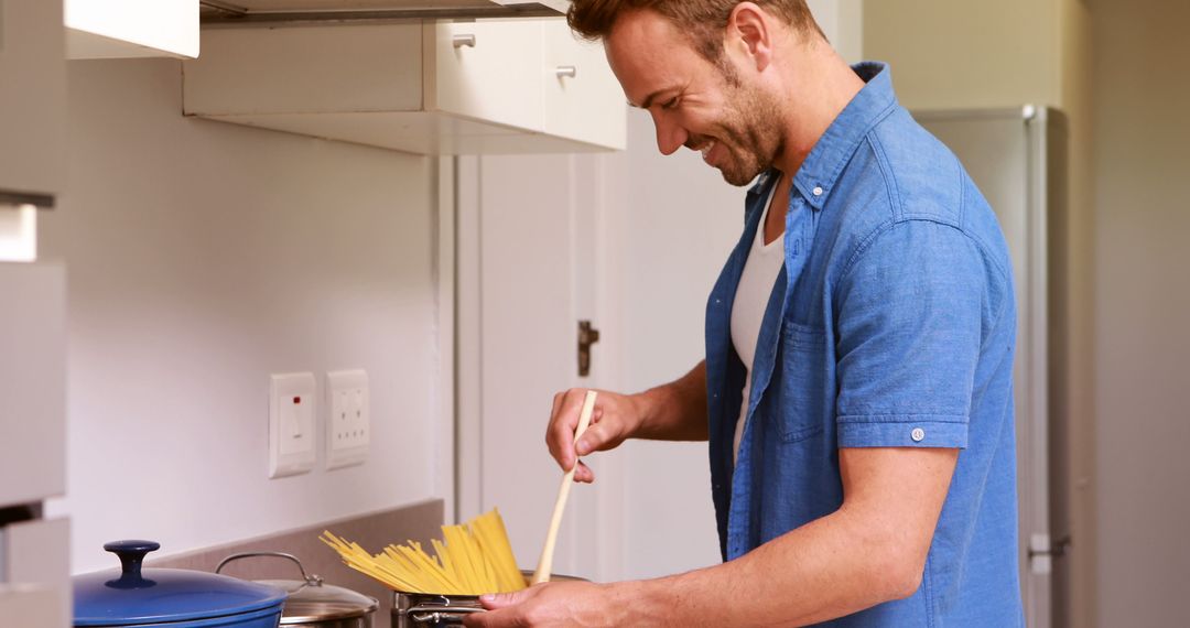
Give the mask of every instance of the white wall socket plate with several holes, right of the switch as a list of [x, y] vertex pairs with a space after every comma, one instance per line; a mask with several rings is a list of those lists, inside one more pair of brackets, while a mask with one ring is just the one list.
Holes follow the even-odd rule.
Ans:
[[371, 440], [368, 373], [362, 370], [328, 372], [326, 394], [326, 467], [362, 464], [368, 459]]

